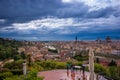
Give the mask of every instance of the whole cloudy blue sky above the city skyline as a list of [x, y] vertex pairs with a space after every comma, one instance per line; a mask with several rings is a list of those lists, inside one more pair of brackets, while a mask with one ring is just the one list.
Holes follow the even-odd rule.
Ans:
[[0, 37], [120, 39], [120, 0], [0, 0]]

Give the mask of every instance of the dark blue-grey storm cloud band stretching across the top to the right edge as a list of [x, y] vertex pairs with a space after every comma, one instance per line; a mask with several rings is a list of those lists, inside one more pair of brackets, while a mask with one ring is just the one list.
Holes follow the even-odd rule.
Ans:
[[[109, 17], [119, 16], [120, 9], [113, 7], [89, 11], [83, 2], [63, 3], [61, 0], [0, 0], [0, 18], [17, 17]], [[18, 20], [19, 21], [19, 20]]]

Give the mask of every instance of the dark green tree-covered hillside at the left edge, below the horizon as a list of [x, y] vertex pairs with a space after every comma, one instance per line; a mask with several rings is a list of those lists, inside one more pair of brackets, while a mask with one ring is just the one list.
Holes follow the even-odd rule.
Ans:
[[18, 55], [17, 49], [22, 43], [16, 40], [0, 38], [0, 60], [13, 59]]

